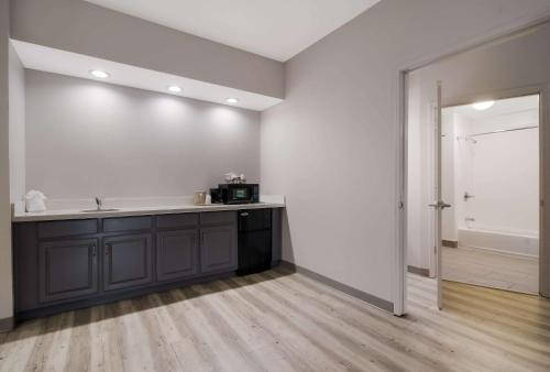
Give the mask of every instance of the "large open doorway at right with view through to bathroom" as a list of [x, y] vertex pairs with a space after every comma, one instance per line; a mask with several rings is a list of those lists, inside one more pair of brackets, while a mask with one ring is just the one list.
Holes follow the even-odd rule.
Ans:
[[433, 286], [439, 306], [441, 288], [464, 285], [457, 282], [550, 296], [550, 53], [539, 53], [548, 37], [550, 23], [541, 23], [403, 73], [396, 314], [407, 313], [400, 304], [413, 282]]

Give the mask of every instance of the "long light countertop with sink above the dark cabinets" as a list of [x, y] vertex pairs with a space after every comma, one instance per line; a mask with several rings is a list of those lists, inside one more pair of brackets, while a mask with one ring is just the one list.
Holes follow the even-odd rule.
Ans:
[[[221, 210], [239, 210], [239, 209], [284, 208], [284, 207], [285, 207], [284, 203], [261, 201], [255, 204], [239, 204], [239, 205], [212, 204], [204, 206], [174, 205], [174, 206], [152, 206], [152, 207], [151, 206], [125, 207], [112, 211], [98, 210], [89, 212], [84, 212], [82, 209], [52, 209], [43, 212], [25, 212], [24, 209], [22, 210], [21, 208], [14, 208], [11, 220], [12, 222], [34, 222], [34, 221], [53, 221], [53, 220], [67, 220], [67, 219], [173, 215], [173, 214], [189, 214], [189, 212], [200, 212], [200, 211], [221, 211]], [[108, 207], [106, 207], [106, 209]]]

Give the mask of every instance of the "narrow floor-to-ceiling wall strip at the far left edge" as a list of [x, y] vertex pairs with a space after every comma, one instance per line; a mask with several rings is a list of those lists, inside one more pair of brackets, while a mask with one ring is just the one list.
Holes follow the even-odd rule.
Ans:
[[9, 13], [9, 1], [0, 0], [0, 330], [11, 326], [8, 319], [13, 316], [8, 98]]

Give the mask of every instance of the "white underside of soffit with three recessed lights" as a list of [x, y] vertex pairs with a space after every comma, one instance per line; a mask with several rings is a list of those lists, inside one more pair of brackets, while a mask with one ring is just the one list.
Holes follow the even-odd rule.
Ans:
[[[255, 111], [263, 111], [283, 101], [274, 97], [95, 58], [82, 54], [16, 40], [12, 40], [11, 42], [25, 68], [160, 91], [167, 95], [200, 99]], [[110, 76], [106, 79], [95, 78], [89, 73], [91, 69], [103, 70]], [[173, 94], [167, 91], [167, 87], [173, 85], [180, 87], [182, 92]], [[228, 98], [237, 98], [239, 102], [229, 105], [227, 102]]]

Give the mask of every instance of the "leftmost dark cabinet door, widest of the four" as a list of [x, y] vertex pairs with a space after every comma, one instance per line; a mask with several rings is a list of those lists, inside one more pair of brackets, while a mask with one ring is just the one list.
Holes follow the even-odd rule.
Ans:
[[96, 239], [40, 243], [40, 300], [57, 302], [96, 294], [97, 245]]

